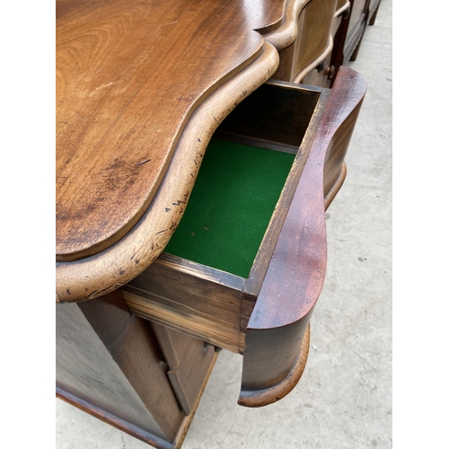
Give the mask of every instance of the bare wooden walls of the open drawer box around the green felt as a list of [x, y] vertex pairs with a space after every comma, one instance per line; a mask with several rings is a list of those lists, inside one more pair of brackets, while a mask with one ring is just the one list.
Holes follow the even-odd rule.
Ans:
[[217, 130], [229, 140], [294, 152], [295, 162], [248, 278], [163, 253], [122, 287], [129, 309], [197, 339], [242, 354], [251, 311], [304, 169], [329, 92], [269, 82]]

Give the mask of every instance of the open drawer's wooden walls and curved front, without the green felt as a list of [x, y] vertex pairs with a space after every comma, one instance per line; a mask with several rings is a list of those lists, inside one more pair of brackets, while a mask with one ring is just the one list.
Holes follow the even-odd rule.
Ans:
[[[122, 287], [133, 313], [243, 352], [242, 403], [251, 407], [259, 397], [277, 401], [299, 379], [304, 332], [326, 267], [324, 210], [345, 179], [343, 160], [365, 87], [347, 67], [332, 92], [270, 82], [219, 128], [222, 136], [260, 136], [274, 147], [276, 140], [294, 146], [302, 139], [248, 279], [163, 255]], [[308, 110], [308, 118], [295, 129], [296, 109]]]

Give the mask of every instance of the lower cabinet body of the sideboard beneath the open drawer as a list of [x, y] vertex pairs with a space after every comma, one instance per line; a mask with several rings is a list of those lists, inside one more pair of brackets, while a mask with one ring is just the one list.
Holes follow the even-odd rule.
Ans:
[[57, 304], [57, 397], [154, 447], [179, 448], [216, 361], [213, 346], [188, 339], [173, 365], [165, 349], [185, 339], [129, 313], [119, 291]]

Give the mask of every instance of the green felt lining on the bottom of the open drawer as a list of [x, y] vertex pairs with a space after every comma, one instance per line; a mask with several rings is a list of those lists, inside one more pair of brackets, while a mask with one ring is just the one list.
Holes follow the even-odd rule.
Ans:
[[165, 252], [248, 277], [294, 159], [213, 138]]

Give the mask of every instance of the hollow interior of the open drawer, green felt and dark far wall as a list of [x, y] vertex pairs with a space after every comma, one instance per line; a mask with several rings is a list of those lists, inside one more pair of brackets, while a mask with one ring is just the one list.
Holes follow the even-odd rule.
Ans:
[[212, 137], [165, 252], [247, 278], [320, 92], [266, 84]]

